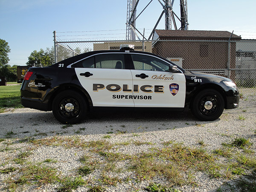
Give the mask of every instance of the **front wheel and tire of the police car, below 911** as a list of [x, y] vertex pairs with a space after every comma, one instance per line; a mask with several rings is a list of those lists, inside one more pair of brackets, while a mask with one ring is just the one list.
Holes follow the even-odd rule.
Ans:
[[224, 110], [224, 99], [218, 91], [206, 89], [199, 92], [192, 101], [193, 115], [202, 121], [218, 119]]

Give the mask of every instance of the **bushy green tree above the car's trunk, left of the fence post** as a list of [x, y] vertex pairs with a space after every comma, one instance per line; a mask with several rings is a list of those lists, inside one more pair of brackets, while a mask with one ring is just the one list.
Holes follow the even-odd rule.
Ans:
[[47, 48], [40, 49], [40, 51], [33, 51], [28, 57], [29, 61], [26, 62], [27, 65], [32, 65], [34, 67], [45, 67], [54, 64], [54, 50]]

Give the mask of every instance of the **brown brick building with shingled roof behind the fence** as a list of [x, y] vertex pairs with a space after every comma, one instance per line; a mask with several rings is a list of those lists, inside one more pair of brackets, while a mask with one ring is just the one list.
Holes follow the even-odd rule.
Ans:
[[182, 59], [184, 69], [227, 69], [227, 41], [230, 39], [232, 69], [236, 68], [236, 41], [241, 37], [234, 34], [231, 37], [231, 34], [227, 31], [155, 30], [153, 40], [163, 41], [154, 41], [152, 52], [169, 60]]

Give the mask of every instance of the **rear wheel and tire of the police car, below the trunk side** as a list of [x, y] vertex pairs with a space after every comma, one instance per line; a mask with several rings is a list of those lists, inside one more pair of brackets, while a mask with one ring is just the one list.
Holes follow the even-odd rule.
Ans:
[[61, 123], [76, 124], [84, 119], [87, 113], [87, 103], [80, 93], [65, 90], [53, 99], [52, 113]]

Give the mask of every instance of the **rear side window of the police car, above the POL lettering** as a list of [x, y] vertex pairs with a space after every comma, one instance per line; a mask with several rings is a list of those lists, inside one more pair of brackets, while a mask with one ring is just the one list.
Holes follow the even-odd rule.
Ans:
[[125, 69], [124, 54], [100, 54], [73, 64], [79, 68]]

